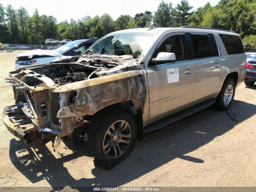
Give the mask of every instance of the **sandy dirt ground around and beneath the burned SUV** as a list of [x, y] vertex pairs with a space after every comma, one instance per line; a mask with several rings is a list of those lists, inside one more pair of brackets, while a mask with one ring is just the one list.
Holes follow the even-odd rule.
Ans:
[[[18, 53], [0, 52], [0, 111], [14, 101], [4, 78]], [[256, 187], [256, 85], [238, 87], [231, 109], [238, 122], [208, 108], [137, 141], [112, 170], [94, 167], [82, 142], [27, 146], [1, 121], [0, 187]]]

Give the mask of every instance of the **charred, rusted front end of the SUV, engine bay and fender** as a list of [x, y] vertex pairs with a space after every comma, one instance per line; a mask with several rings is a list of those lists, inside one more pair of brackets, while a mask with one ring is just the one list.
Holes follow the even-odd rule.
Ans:
[[[72, 136], [96, 112], [114, 104], [143, 111], [144, 74], [140, 58], [86, 56], [75, 62], [43, 64], [11, 72], [15, 106], [5, 110], [4, 123], [26, 143]], [[89, 118], [88, 118], [89, 117]]]

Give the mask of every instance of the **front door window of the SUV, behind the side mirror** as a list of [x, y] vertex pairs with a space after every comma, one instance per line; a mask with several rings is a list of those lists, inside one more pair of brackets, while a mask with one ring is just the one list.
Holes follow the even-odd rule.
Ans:
[[186, 50], [185, 50], [185, 36], [171, 36], [162, 42], [160, 47], [156, 50], [154, 58], [160, 52], [174, 53], [176, 56], [176, 61], [187, 60]]

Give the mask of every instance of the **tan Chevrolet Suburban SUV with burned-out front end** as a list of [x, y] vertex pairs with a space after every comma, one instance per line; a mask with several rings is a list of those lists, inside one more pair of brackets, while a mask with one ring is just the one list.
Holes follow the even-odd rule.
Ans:
[[26, 143], [83, 138], [94, 163], [110, 169], [143, 134], [213, 104], [229, 108], [245, 63], [232, 31], [113, 32], [74, 60], [11, 72], [16, 105], [4, 109], [3, 121]]

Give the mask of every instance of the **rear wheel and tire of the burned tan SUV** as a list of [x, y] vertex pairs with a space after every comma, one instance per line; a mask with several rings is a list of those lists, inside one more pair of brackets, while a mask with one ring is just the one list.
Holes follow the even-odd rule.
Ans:
[[[230, 94], [231, 92], [232, 92], [232, 95]], [[228, 109], [233, 103], [235, 92], [236, 92], [236, 84], [234, 80], [232, 78], [227, 77], [220, 90], [220, 93], [216, 98], [216, 101], [214, 104], [215, 107], [218, 108], [219, 110]]]

